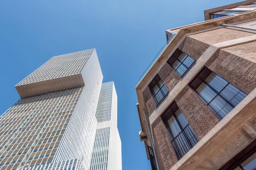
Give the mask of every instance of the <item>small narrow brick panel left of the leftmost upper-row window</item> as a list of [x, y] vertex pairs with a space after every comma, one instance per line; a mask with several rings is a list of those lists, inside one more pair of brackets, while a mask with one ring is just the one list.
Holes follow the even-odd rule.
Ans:
[[149, 117], [156, 109], [156, 104], [148, 87], [143, 91], [143, 97], [145, 100], [146, 114]]

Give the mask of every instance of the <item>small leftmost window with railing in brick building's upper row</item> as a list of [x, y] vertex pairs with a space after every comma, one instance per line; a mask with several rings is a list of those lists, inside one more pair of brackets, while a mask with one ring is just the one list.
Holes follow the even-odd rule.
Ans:
[[166, 85], [163, 83], [163, 81], [160, 79], [159, 75], [152, 80], [152, 82], [148, 85], [151, 94], [153, 96], [155, 104], [158, 106], [163, 99], [167, 96], [169, 93], [169, 90], [167, 89]]

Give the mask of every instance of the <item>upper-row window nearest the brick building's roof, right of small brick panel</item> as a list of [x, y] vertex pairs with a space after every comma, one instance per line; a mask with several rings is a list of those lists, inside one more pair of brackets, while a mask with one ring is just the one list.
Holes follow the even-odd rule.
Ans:
[[167, 63], [171, 65], [180, 77], [183, 77], [195, 63], [195, 59], [177, 49]]

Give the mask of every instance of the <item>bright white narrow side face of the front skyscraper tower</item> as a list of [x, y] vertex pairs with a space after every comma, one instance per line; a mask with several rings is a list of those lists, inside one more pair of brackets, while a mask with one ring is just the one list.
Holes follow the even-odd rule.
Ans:
[[54, 161], [78, 158], [84, 168], [89, 169], [97, 128], [95, 115], [103, 79], [96, 53], [91, 55], [82, 74], [84, 90]]

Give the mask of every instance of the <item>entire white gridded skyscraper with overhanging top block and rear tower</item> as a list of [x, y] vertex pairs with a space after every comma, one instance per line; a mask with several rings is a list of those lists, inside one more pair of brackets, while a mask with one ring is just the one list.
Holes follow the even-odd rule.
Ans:
[[90, 49], [52, 57], [19, 82], [21, 99], [0, 117], [0, 168], [122, 169], [116, 91], [102, 79]]

